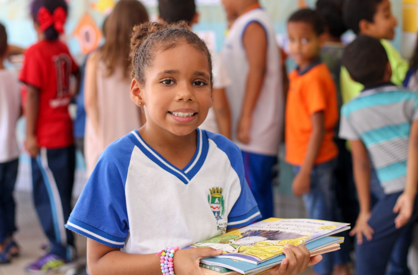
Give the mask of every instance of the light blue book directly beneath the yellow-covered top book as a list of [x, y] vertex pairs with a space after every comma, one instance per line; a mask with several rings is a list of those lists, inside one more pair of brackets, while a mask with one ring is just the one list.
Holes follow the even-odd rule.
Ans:
[[[325, 248], [333, 244], [339, 244], [339, 243], [342, 243], [343, 241], [344, 241], [344, 238], [324, 237], [324, 238], [309, 242], [304, 245], [306, 248], [308, 248], [311, 254], [313, 254], [315, 250], [319, 250], [321, 248]], [[277, 257], [274, 257], [270, 260], [264, 261], [259, 264], [252, 264], [252, 263], [249, 263], [246, 261], [240, 261], [237, 259], [215, 258], [215, 257], [206, 257], [206, 258], [201, 259], [200, 262], [203, 264], [207, 264], [207, 265], [231, 269], [244, 275], [253, 275], [253, 274], [255, 275], [280, 264], [284, 258], [286, 258], [286, 256], [284, 254], [281, 254]]]

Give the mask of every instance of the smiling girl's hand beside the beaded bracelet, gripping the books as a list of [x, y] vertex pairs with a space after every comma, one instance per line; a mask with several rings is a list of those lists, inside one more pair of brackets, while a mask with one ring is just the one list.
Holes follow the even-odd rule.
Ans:
[[180, 249], [173, 258], [174, 272], [176, 275], [204, 275], [199, 267], [200, 259], [218, 256], [222, 252], [211, 247]]

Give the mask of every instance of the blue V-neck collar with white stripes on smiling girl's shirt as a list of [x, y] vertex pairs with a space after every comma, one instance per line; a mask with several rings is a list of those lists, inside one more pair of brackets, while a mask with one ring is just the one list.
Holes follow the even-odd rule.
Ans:
[[129, 137], [152, 162], [179, 178], [179, 180], [181, 180], [184, 184], [188, 184], [202, 167], [206, 160], [206, 156], [208, 155], [209, 149], [209, 142], [208, 138], [206, 137], [206, 132], [200, 130], [199, 128], [196, 129], [196, 131], [196, 152], [194, 153], [190, 162], [183, 169], [179, 169], [175, 165], [172, 165], [151, 146], [149, 146], [148, 143], [145, 142], [145, 140], [141, 137], [141, 134], [139, 134], [138, 130], [132, 131]]

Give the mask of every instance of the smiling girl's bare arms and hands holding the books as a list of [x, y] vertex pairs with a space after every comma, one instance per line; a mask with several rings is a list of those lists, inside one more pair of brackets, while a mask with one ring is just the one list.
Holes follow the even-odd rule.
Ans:
[[[176, 251], [173, 257], [177, 275], [204, 275], [199, 267], [203, 257], [217, 256], [222, 250], [210, 247], [188, 248]], [[286, 259], [282, 264], [267, 271], [266, 275], [292, 275], [304, 272], [308, 265], [321, 261], [322, 256], [310, 257], [305, 246], [289, 246], [283, 249]], [[108, 247], [87, 239], [87, 266], [90, 275], [161, 275], [160, 257], [154, 254], [128, 254], [119, 248]]]

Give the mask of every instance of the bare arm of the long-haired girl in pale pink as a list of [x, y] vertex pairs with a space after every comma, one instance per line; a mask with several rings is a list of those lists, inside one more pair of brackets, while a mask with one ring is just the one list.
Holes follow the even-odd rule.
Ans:
[[96, 83], [97, 62], [97, 53], [92, 53], [86, 62], [84, 79], [84, 108], [96, 134], [99, 133], [99, 109], [97, 105]]

